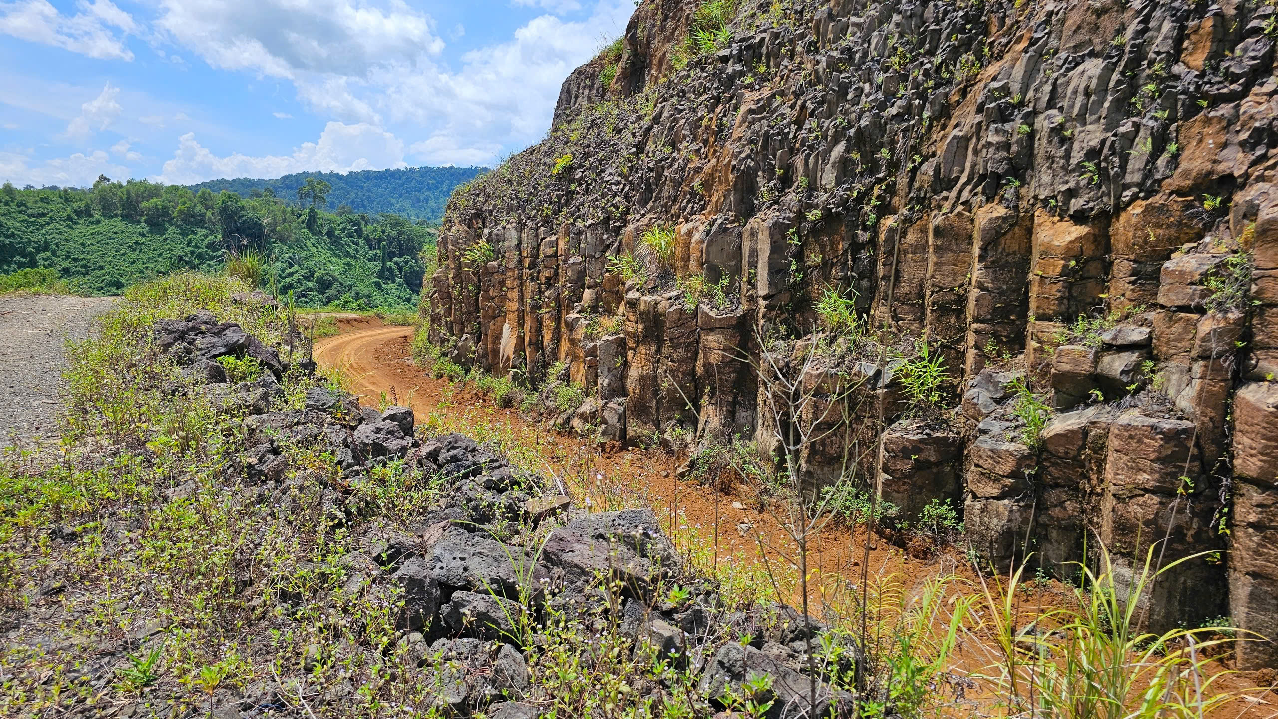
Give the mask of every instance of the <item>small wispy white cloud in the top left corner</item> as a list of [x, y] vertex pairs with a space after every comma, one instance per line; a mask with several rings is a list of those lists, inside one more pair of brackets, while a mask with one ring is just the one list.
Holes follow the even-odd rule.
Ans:
[[133, 60], [124, 38], [137, 23], [128, 13], [111, 0], [81, 0], [77, 8], [81, 11], [68, 17], [47, 0], [0, 3], [0, 33], [89, 57]]

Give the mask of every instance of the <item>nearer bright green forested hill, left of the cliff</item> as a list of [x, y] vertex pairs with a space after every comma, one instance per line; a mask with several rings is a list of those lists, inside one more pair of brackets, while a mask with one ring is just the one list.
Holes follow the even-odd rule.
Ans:
[[[314, 185], [312, 185], [313, 188]], [[296, 193], [294, 192], [294, 198]], [[422, 250], [435, 230], [397, 215], [330, 213], [267, 193], [192, 192], [146, 180], [98, 179], [91, 189], [0, 188], [0, 275], [56, 269], [86, 294], [119, 294], [179, 269], [261, 262], [262, 284], [303, 307], [415, 304]]]

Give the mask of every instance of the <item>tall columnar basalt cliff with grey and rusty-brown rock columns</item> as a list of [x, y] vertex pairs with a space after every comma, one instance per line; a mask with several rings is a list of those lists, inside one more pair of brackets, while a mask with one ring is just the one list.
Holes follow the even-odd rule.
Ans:
[[[454, 195], [431, 338], [566, 361], [610, 441], [763, 448], [753, 365], [818, 342], [803, 381], [864, 421], [805, 455], [813, 483], [855, 444], [866, 485], [955, 501], [1003, 567], [1205, 553], [1149, 623], [1278, 636], [1275, 37], [1264, 3], [645, 0], [548, 138]], [[893, 369], [920, 346], [939, 421]]]

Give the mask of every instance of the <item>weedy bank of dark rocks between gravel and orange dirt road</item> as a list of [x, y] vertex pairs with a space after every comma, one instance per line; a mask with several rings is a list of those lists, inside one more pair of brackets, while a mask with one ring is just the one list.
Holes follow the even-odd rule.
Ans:
[[[197, 524], [212, 525], [215, 507], [234, 508], [242, 524], [233, 536], [244, 543], [235, 553], [256, 559], [236, 563], [233, 586], [217, 599], [230, 612], [226, 626], [234, 622], [247, 637], [248, 664], [236, 681], [210, 679], [203, 697], [194, 683], [175, 685], [158, 670], [121, 690], [139, 662], [169, 656], [184, 633], [226, 626], [201, 626], [201, 613], [183, 614], [162, 593], [142, 590], [125, 603], [123, 632], [109, 628], [84, 644], [73, 627], [89, 618], [77, 602], [101, 587], [96, 573], [66, 570], [45, 572], [5, 610], [10, 687], [60, 681], [65, 672], [92, 697], [69, 702], [73, 716], [249, 718], [303, 708], [348, 715], [358, 714], [353, 706], [367, 709], [362, 692], [378, 686], [391, 695], [415, 687], [413, 696], [443, 715], [532, 718], [555, 706], [548, 677], [567, 651], [576, 662], [608, 659], [633, 670], [615, 677], [629, 682], [627, 701], [663, 704], [681, 687], [702, 714], [755, 692], [771, 701], [764, 714], [773, 719], [808, 709], [814, 667], [818, 711], [850, 711], [852, 696], [838, 687], [851, 676], [851, 641], [789, 607], [735, 603], [684, 564], [649, 510], [589, 513], [468, 437], [418, 435], [408, 407], [377, 411], [314, 384], [291, 396], [296, 369], [208, 313], [160, 322], [152, 346], [181, 368], [181, 379], [164, 388], [174, 404], [207, 401], [229, 418], [220, 432], [235, 438], [234, 461], [215, 462], [211, 478], [171, 476], [152, 499], [161, 511], [116, 506], [45, 527], [42, 536], [55, 556], [101, 543], [130, 562], [139, 538], [147, 545], [148, 525], [164, 524], [166, 513], [201, 507], [212, 513]], [[248, 360], [259, 375], [235, 382]], [[409, 501], [389, 497], [392, 487], [367, 490], [395, 476], [409, 478], [400, 485]], [[284, 575], [265, 572], [263, 564], [279, 562], [268, 552], [272, 525], [262, 524], [271, 516], [280, 522], [273, 526], [344, 549]], [[363, 623], [369, 608], [385, 612], [385, 633]], [[313, 640], [281, 644], [317, 621]], [[814, 665], [809, 640], [826, 646]], [[601, 646], [611, 654], [593, 654]], [[833, 646], [843, 650], [832, 654]], [[74, 662], [45, 670], [52, 656]], [[652, 665], [662, 670], [636, 669]], [[750, 688], [759, 676], [769, 678], [767, 690]]]

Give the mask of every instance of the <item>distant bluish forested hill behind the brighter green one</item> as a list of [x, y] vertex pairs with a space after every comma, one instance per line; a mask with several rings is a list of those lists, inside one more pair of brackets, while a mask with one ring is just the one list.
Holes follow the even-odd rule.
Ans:
[[230, 190], [243, 197], [267, 188], [276, 197], [294, 198], [308, 178], [322, 179], [332, 186], [327, 207], [346, 206], [353, 212], [377, 215], [394, 212], [409, 220], [438, 222], [452, 188], [469, 183], [486, 167], [405, 167], [401, 170], [360, 170], [358, 172], [294, 172], [275, 180], [236, 178], [234, 180], [208, 180], [190, 185], [192, 190], [210, 189], [213, 193]]

